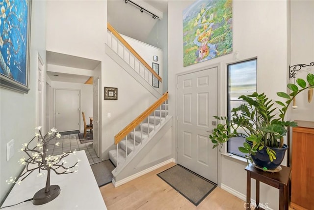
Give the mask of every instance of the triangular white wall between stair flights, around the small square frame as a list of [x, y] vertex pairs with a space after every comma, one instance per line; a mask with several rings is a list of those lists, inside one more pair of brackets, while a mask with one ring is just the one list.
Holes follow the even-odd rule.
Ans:
[[[120, 65], [106, 56], [106, 71], [102, 75], [105, 87], [118, 88], [118, 100], [104, 100], [102, 96], [102, 153], [108, 159], [108, 150], [115, 149], [114, 136], [132, 120], [157, 101], [147, 89], [134, 80]], [[102, 87], [104, 89], [104, 87]], [[110, 113], [111, 118], [107, 118]]]

